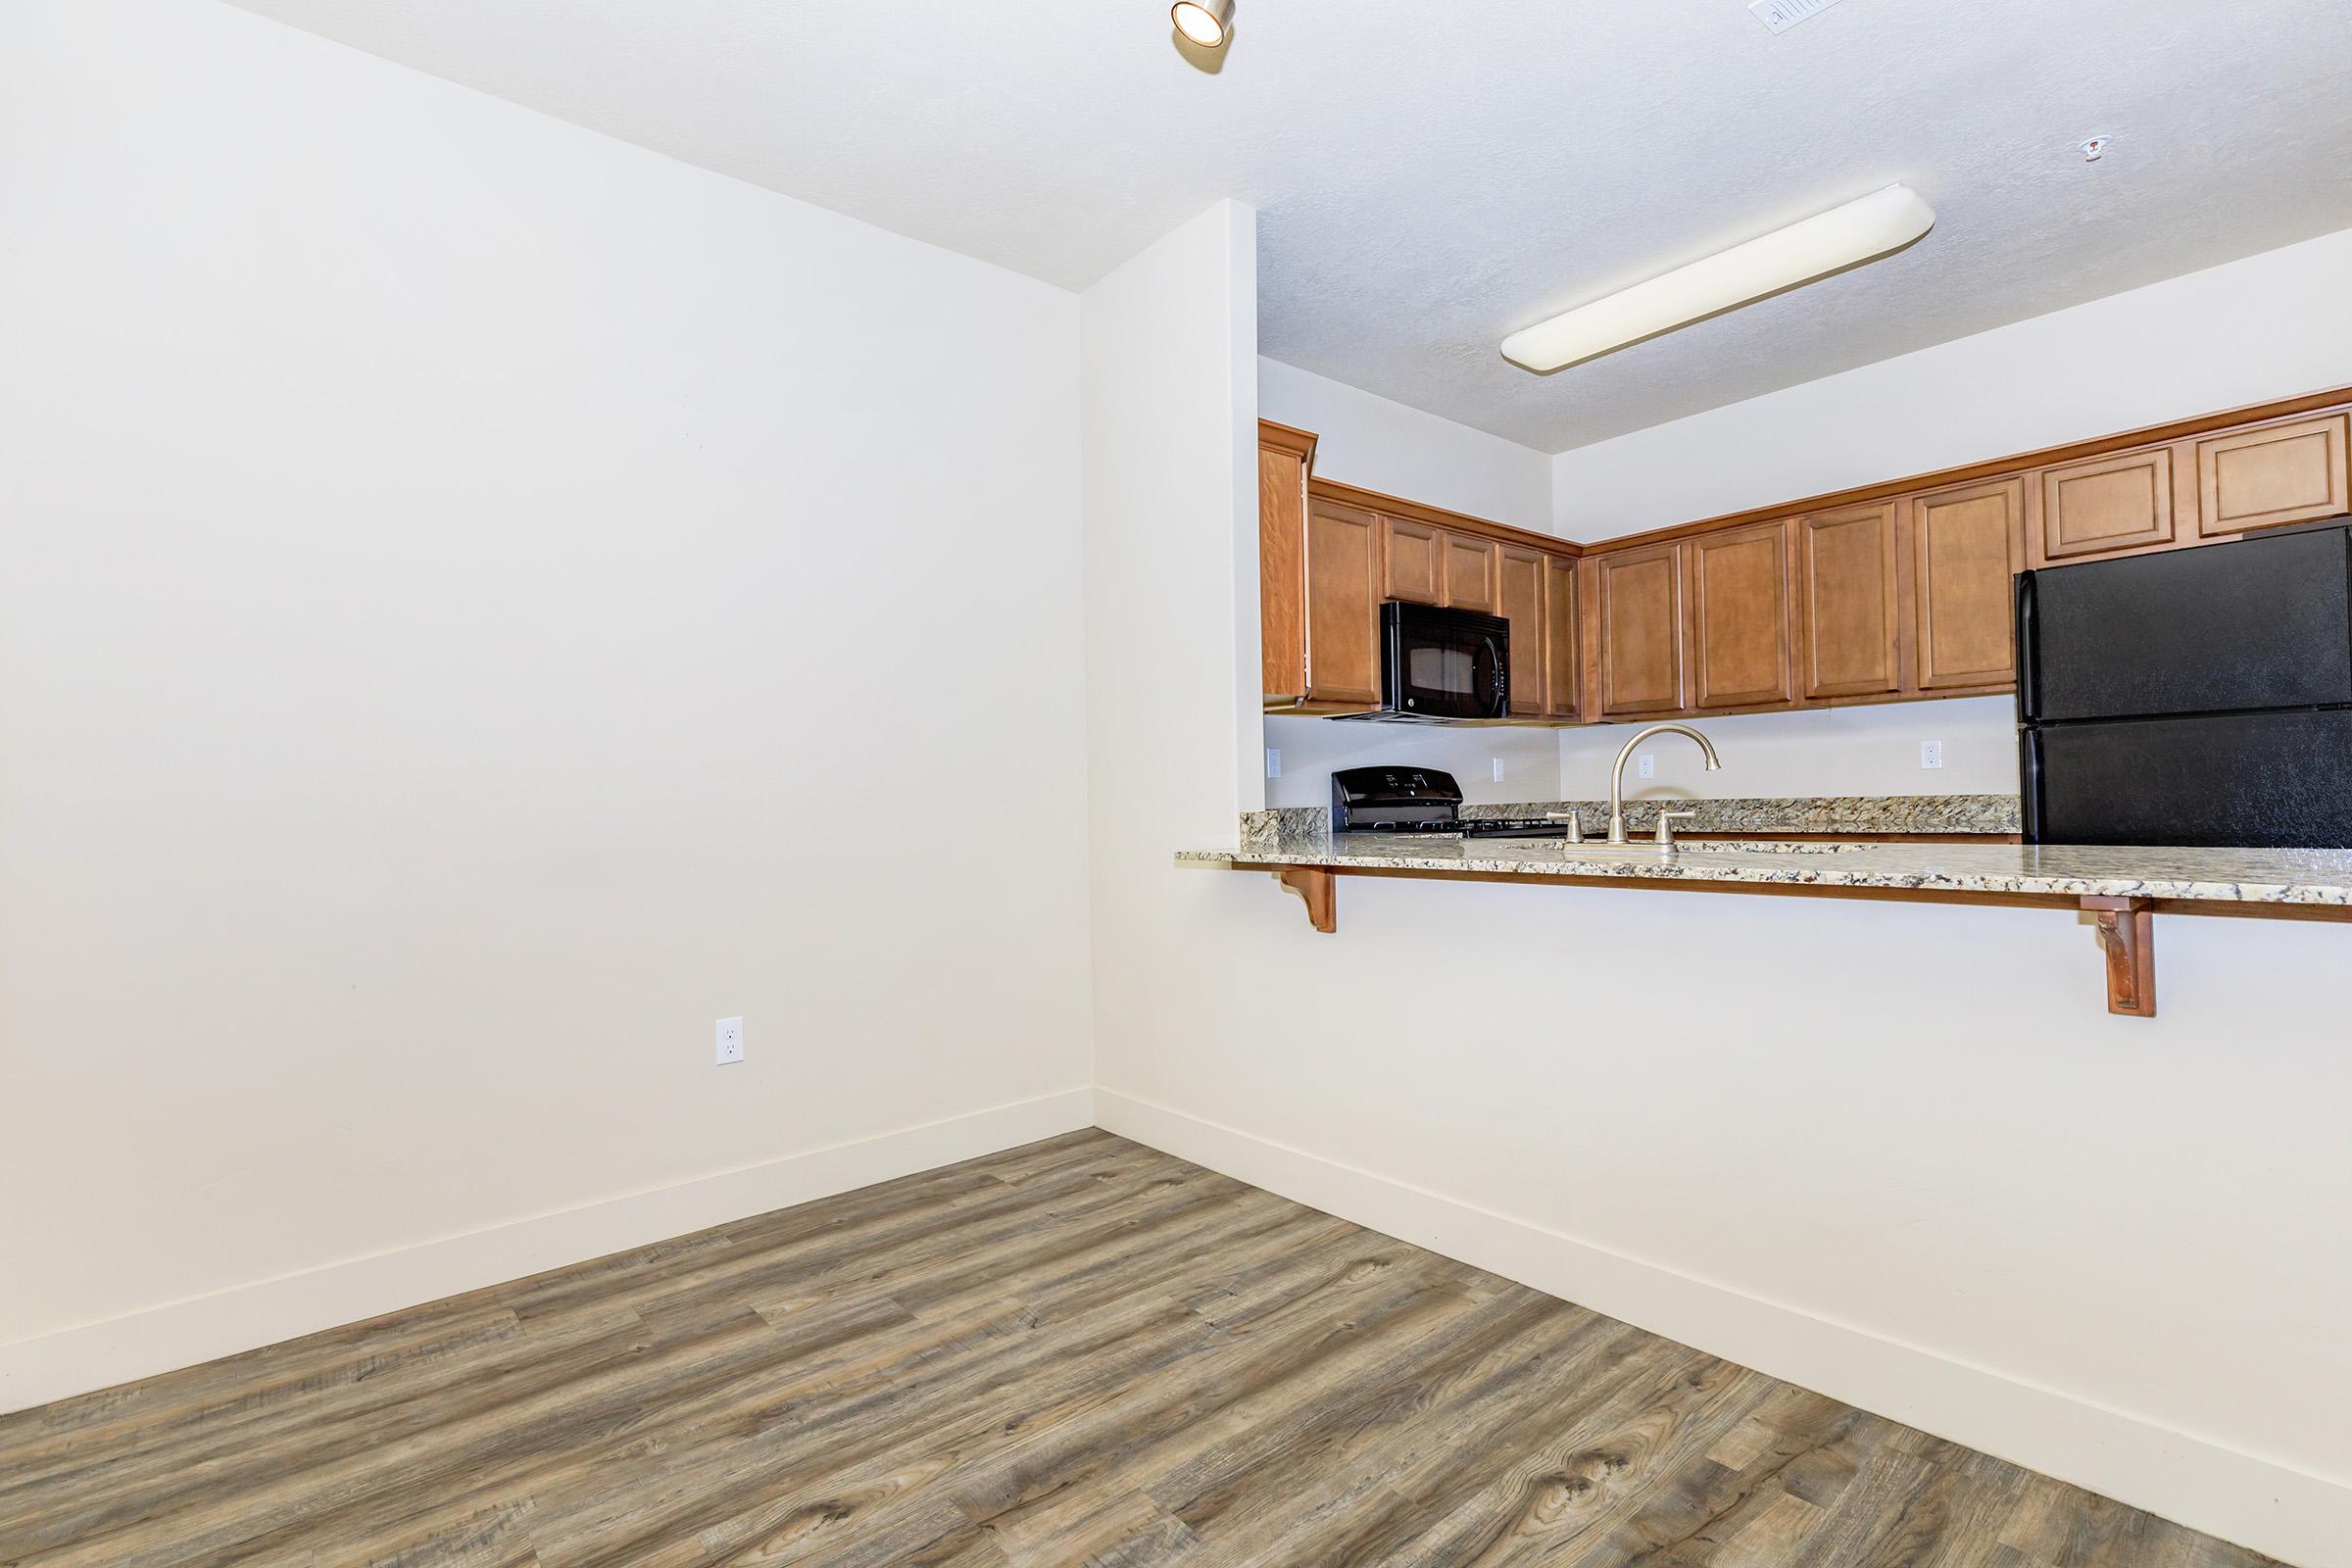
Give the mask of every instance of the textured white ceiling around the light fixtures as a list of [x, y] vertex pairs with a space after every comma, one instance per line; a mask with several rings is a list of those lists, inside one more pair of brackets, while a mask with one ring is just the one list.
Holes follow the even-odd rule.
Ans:
[[[1778, 38], [1740, 0], [1240, 0], [1214, 75], [1164, 0], [235, 2], [1068, 287], [1242, 197], [1268, 355], [1543, 451], [2352, 226], [2345, 0]], [[1555, 376], [1496, 350], [1898, 179], [1940, 223], [1893, 259]]]

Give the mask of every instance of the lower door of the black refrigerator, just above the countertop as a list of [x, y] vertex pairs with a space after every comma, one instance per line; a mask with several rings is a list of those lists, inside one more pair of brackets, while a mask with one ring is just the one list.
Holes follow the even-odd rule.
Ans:
[[2030, 844], [2352, 849], [2352, 710], [2025, 731]]

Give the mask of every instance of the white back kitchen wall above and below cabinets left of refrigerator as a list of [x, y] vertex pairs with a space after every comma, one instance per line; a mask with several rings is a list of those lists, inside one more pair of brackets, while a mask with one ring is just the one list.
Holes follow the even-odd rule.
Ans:
[[[1552, 458], [1555, 531], [1616, 538], [2352, 381], [2352, 230], [1938, 343]], [[1703, 719], [1646, 795], [2013, 792], [2016, 715], [1962, 698]], [[1562, 776], [1606, 785], [1625, 726], [1559, 736]], [[1919, 741], [1945, 769], [1919, 769]], [[1672, 750], [1672, 755], [1670, 755]], [[1905, 764], [1907, 759], [1907, 764]], [[1764, 783], [1773, 780], [1773, 783]]]

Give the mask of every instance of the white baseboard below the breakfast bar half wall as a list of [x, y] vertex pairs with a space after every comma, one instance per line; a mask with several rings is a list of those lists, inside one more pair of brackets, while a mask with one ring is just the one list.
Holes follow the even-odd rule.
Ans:
[[2336, 1481], [1115, 1088], [1094, 1093], [1105, 1131], [1254, 1187], [2281, 1561], [2352, 1561], [2352, 1488]]

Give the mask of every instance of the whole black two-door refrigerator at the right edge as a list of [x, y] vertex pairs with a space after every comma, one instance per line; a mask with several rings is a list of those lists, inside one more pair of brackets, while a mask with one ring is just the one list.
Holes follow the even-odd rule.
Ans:
[[2020, 574], [2025, 842], [2352, 849], [2345, 524]]

